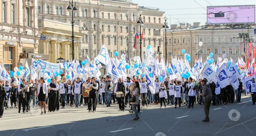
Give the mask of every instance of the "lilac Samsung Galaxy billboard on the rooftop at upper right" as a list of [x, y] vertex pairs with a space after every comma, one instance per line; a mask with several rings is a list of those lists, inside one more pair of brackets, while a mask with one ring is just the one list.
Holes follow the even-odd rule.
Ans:
[[207, 24], [253, 24], [255, 5], [207, 6]]

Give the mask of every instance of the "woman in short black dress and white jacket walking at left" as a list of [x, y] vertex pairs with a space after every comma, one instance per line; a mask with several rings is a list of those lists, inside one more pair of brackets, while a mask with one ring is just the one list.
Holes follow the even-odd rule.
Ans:
[[43, 114], [43, 107], [42, 107], [42, 105], [44, 105], [44, 110], [45, 110], [45, 114], [46, 114], [45, 99], [48, 96], [47, 85], [46, 85], [45, 80], [44, 80], [43, 77], [40, 78], [39, 82], [40, 83], [38, 84], [37, 96], [36, 97], [38, 97], [38, 101], [39, 101], [40, 109], [41, 109], [41, 114]]

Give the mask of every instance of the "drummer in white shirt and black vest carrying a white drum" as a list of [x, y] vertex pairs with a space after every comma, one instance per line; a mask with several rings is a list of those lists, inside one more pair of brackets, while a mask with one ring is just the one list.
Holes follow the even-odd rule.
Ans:
[[119, 111], [125, 111], [125, 95], [127, 93], [126, 91], [126, 83], [123, 82], [122, 78], [119, 77], [118, 79], [119, 82], [117, 82], [116, 87], [115, 87], [115, 95], [117, 92], [122, 92], [124, 95], [122, 97], [118, 97], [118, 104], [119, 104]]

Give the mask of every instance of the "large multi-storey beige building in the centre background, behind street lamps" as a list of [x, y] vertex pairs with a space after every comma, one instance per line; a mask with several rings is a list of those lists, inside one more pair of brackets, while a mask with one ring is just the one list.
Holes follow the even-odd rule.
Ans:
[[[93, 59], [99, 53], [102, 45], [105, 43], [111, 57], [114, 57], [114, 51], [121, 53], [129, 53], [129, 58], [140, 54], [139, 39], [137, 39], [137, 48], [133, 48], [135, 32], [140, 33], [138, 21], [138, 11], [143, 11], [141, 15], [144, 24], [141, 27], [143, 30], [142, 53], [148, 45], [157, 53], [157, 46], [160, 46], [160, 51], [163, 52], [162, 40], [162, 23], [164, 12], [159, 11], [158, 8], [141, 7], [138, 4], [131, 3], [130, 0], [88, 0], [88, 1], [74, 1], [78, 12], [74, 13], [74, 24], [79, 29], [75, 33], [75, 42], [78, 46], [78, 54], [76, 57], [83, 60], [86, 54]], [[70, 27], [72, 17], [71, 13], [67, 11], [69, 1], [38, 1], [38, 19], [53, 20], [56, 23], [64, 23], [66, 27]], [[39, 23], [40, 24], [40, 23]], [[53, 26], [53, 25], [52, 25]], [[44, 26], [42, 26], [44, 27]], [[41, 28], [41, 26], [40, 26]], [[55, 29], [62, 30], [54, 25]], [[42, 28], [43, 29], [43, 28]], [[68, 28], [64, 28], [65, 30]], [[44, 33], [44, 29], [43, 29]], [[83, 35], [82, 38], [79, 38]], [[44, 33], [47, 38], [52, 38], [56, 41], [56, 37], [52, 34]], [[53, 39], [54, 38], [54, 39]], [[68, 39], [68, 41], [64, 40]], [[59, 38], [59, 44], [65, 41], [69, 44], [70, 35], [62, 35]], [[41, 43], [40, 43], [41, 45]], [[45, 46], [45, 44], [42, 44]], [[62, 44], [61, 44], [62, 45]], [[47, 48], [47, 47], [44, 47]], [[58, 49], [58, 47], [56, 47]], [[49, 54], [49, 50], [44, 50], [45, 54]], [[66, 52], [68, 54], [68, 52]], [[62, 56], [65, 53], [62, 53]], [[156, 54], [158, 55], [158, 54]], [[58, 58], [58, 51], [52, 52], [51, 61]], [[118, 56], [118, 58], [119, 58]]]

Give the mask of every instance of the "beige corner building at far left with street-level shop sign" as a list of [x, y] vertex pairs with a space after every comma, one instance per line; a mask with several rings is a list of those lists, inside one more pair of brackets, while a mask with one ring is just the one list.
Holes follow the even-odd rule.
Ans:
[[38, 52], [41, 31], [37, 26], [37, 1], [2, 0], [1, 7], [0, 64], [13, 71], [25, 63], [21, 53]]

